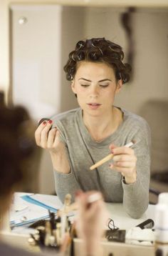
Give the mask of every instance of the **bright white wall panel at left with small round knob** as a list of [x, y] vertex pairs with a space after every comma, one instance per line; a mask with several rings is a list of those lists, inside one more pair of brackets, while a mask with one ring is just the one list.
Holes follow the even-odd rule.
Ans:
[[[23, 104], [33, 119], [61, 108], [61, 6], [11, 6], [14, 104]], [[20, 19], [25, 24], [19, 24]]]

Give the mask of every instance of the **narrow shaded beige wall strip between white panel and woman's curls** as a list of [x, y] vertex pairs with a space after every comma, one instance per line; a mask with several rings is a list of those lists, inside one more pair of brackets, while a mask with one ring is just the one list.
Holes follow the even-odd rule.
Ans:
[[[62, 15], [62, 60], [61, 60], [61, 111], [73, 109], [78, 106], [71, 90], [70, 82], [65, 78], [63, 67], [68, 61], [68, 54], [73, 51], [77, 41], [85, 36], [85, 7], [63, 7]], [[67, 97], [65, 97], [67, 96]]]

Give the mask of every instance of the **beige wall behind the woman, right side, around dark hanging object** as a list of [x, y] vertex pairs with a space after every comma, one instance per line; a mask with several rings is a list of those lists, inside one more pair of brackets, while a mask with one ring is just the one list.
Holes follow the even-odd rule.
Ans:
[[[149, 99], [168, 100], [168, 9], [140, 9], [133, 14], [132, 19], [135, 73], [132, 82], [125, 84], [115, 102], [132, 112], [139, 113]], [[120, 9], [88, 8], [85, 22], [85, 36], [105, 36], [120, 44], [127, 56], [127, 41], [120, 24]]]

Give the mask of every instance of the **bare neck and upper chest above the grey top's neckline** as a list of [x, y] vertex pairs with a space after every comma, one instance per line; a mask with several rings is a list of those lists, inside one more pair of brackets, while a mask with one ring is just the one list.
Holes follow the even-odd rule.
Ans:
[[112, 107], [109, 113], [100, 117], [92, 117], [83, 113], [83, 122], [96, 142], [100, 142], [117, 130], [122, 122], [122, 112]]

